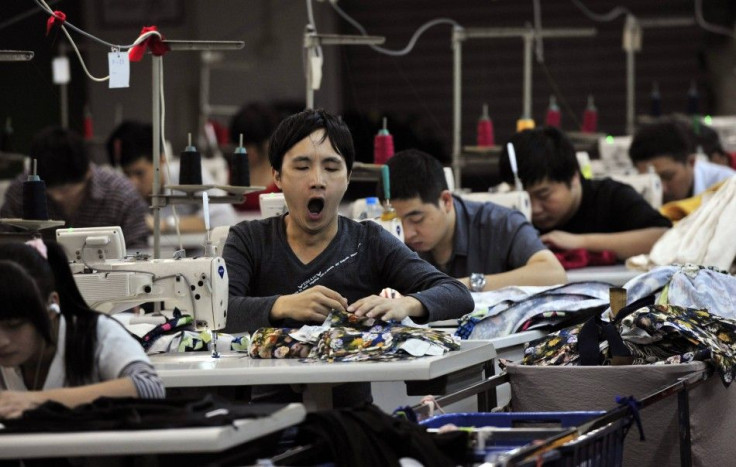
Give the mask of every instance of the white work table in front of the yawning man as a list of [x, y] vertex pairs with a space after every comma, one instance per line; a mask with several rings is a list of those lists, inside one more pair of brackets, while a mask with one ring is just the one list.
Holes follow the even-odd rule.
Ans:
[[[480, 367], [495, 358], [493, 345], [463, 341], [460, 350], [436, 357], [393, 362], [301, 362], [298, 359], [252, 359], [243, 354], [152, 355], [158, 375], [169, 388], [251, 386], [263, 384], [304, 385], [308, 409], [332, 407], [332, 386], [343, 383], [404, 381], [414, 384], [457, 377], [464, 370]], [[463, 375], [467, 377], [467, 371]], [[427, 391], [426, 394], [430, 394]]]

